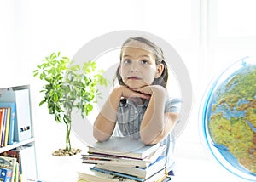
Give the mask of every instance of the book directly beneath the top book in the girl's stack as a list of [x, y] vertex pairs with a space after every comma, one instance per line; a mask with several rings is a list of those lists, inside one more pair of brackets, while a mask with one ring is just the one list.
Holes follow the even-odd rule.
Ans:
[[106, 164], [110, 166], [141, 167], [146, 168], [150, 162], [122, 156], [109, 156], [100, 154], [82, 155], [83, 163]]

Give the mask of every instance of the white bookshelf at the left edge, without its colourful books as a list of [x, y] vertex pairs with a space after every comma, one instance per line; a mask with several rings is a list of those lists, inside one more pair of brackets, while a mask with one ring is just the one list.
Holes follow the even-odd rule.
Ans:
[[[37, 179], [38, 170], [36, 162], [34, 128], [32, 122], [30, 85], [27, 84], [15, 87], [0, 88], [0, 103], [13, 102], [15, 102], [13, 139], [12, 142], [8, 142], [7, 145], [0, 147], [0, 154], [8, 151], [20, 151], [22, 178]], [[10, 120], [11, 119], [9, 119], [9, 121]], [[2, 125], [0, 125], [0, 127], [1, 126]], [[10, 135], [9, 138], [11, 138]]]

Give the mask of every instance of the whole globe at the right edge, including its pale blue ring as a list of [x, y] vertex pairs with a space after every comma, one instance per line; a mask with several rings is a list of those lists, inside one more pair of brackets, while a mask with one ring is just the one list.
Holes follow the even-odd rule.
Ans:
[[211, 156], [230, 173], [256, 180], [256, 65], [236, 61], [207, 88], [201, 131]]

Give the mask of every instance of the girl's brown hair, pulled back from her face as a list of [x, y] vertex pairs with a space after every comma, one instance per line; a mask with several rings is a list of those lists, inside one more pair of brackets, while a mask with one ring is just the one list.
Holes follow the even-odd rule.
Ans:
[[[120, 61], [122, 60], [123, 48], [125, 48], [125, 45], [127, 43], [130, 43], [131, 41], [137, 41], [137, 42], [140, 42], [140, 43], [145, 43], [146, 45], [148, 45], [149, 48], [152, 48], [152, 50], [150, 50], [150, 51], [155, 55], [155, 65], [160, 65], [160, 64], [164, 65], [164, 70], [163, 70], [161, 76], [158, 77], [158, 78], [154, 78], [154, 82], [152, 84], [153, 85], [161, 85], [164, 88], [166, 88], [166, 84], [167, 84], [167, 80], [168, 80], [168, 68], [167, 68], [167, 65], [166, 65], [166, 61], [165, 61], [163, 51], [160, 47], [158, 47], [157, 45], [155, 45], [154, 43], [152, 43], [148, 39], [146, 39], [144, 37], [130, 37], [130, 38], [128, 38], [125, 41], [125, 43], [123, 43], [123, 45], [122, 45], [121, 54], [120, 54]], [[123, 82], [122, 77], [120, 76], [119, 67], [116, 71], [116, 78], [118, 79], [120, 85], [125, 85], [125, 82]]]

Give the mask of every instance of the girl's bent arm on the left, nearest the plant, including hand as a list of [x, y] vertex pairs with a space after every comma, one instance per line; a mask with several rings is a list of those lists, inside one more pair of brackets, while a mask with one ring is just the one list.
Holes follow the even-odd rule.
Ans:
[[108, 100], [102, 107], [102, 111], [96, 117], [93, 127], [93, 136], [98, 141], [104, 141], [113, 134], [116, 124], [116, 116], [121, 98], [141, 97], [149, 99], [148, 95], [137, 93], [125, 86], [113, 88]]

